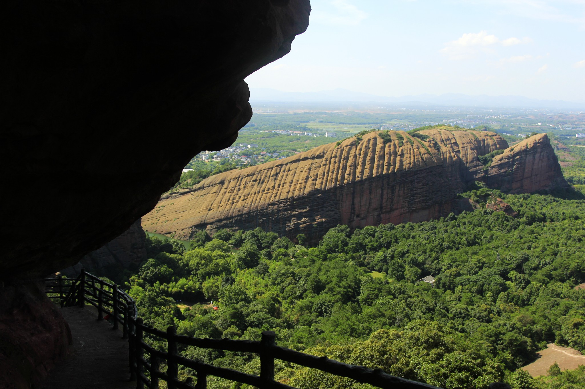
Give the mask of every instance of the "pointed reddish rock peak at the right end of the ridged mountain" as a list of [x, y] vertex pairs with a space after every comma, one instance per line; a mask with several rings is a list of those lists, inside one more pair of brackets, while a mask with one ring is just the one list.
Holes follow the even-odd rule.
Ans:
[[523, 193], [568, 188], [560, 171], [555, 150], [546, 134], [524, 139], [494, 157], [484, 176], [478, 176], [490, 188]]

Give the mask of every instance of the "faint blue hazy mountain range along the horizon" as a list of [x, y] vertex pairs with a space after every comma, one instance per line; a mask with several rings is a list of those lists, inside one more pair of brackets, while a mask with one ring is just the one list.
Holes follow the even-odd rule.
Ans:
[[321, 92], [282, 92], [270, 88], [250, 88], [250, 101], [253, 102], [295, 102], [295, 103], [387, 103], [395, 104], [433, 104], [436, 106], [479, 106], [479, 107], [522, 107], [522, 108], [561, 108], [585, 110], [585, 102], [563, 100], [538, 100], [524, 96], [488, 96], [480, 94], [469, 96], [462, 93], [418, 94], [416, 96], [386, 97], [376, 94], [353, 92], [347, 89], [322, 90]]

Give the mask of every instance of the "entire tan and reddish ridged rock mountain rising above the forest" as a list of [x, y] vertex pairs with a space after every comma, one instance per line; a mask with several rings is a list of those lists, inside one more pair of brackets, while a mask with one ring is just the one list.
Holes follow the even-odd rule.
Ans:
[[[514, 148], [493, 132], [440, 126], [416, 135], [373, 131], [217, 174], [161, 200], [142, 226], [178, 239], [196, 229], [263, 227], [318, 240], [338, 224], [421, 222], [457, 212], [456, 194], [475, 180], [514, 192], [568, 186], [545, 134]], [[481, 162], [497, 150], [504, 152], [490, 166]]]

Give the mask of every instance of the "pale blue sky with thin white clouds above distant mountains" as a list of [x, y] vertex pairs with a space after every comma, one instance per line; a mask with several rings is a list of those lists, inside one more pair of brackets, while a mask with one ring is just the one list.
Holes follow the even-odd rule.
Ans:
[[251, 88], [585, 101], [585, 0], [312, 0]]

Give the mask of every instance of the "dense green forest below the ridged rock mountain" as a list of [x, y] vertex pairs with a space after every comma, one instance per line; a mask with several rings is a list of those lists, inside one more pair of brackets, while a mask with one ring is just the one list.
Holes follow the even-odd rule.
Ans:
[[[533, 379], [519, 367], [550, 342], [585, 351], [585, 290], [574, 288], [585, 280], [585, 201], [480, 187], [463, 196], [480, 209], [353, 232], [337, 226], [316, 247], [261, 229], [199, 232], [186, 252], [153, 237], [150, 259], [126, 286], [146, 324], [176, 325], [179, 334], [259, 340], [273, 330], [278, 345], [444, 388], [583, 387], [583, 369]], [[495, 198], [517, 215], [488, 210]], [[427, 275], [434, 285], [417, 282]], [[254, 355], [181, 352], [259, 372]], [[284, 362], [276, 371], [302, 389], [366, 387]], [[246, 387], [212, 377], [209, 385]]]

